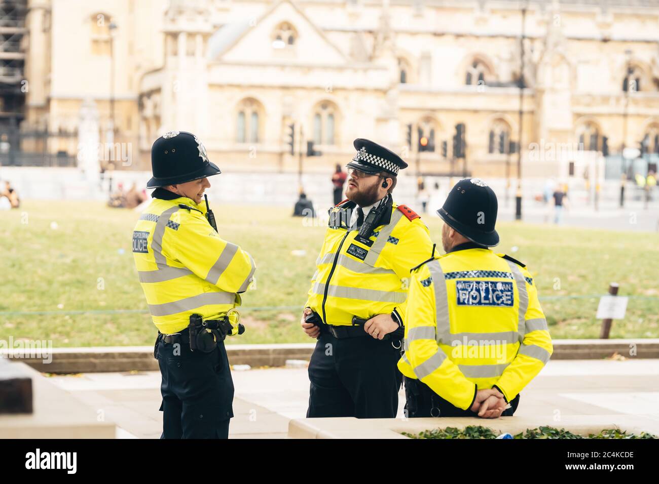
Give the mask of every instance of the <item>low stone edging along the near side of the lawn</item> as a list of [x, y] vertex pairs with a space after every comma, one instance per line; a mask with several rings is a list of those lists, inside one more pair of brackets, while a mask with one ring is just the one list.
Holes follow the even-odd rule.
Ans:
[[[309, 360], [315, 343], [227, 344], [232, 365], [283, 366], [286, 360]], [[659, 358], [659, 338], [617, 340], [554, 340], [552, 360], [601, 360], [614, 353], [625, 358]], [[44, 373], [157, 371], [153, 346], [53, 348], [52, 362], [20, 358], [22, 350], [0, 350], [0, 356], [20, 360]]]

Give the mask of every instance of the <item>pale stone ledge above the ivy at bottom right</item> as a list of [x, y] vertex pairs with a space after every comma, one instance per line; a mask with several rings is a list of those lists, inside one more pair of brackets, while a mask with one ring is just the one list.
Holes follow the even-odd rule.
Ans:
[[408, 439], [403, 432], [419, 433], [445, 427], [463, 429], [467, 425], [482, 425], [499, 433], [513, 435], [526, 429], [550, 425], [587, 436], [603, 429], [618, 428], [629, 433], [649, 432], [659, 435], [659, 421], [652, 417], [627, 415], [579, 415], [563, 416], [559, 422], [548, 422], [538, 417], [500, 417], [480, 419], [460, 418], [413, 418], [413, 419], [356, 419], [304, 418], [289, 422], [291, 439]]

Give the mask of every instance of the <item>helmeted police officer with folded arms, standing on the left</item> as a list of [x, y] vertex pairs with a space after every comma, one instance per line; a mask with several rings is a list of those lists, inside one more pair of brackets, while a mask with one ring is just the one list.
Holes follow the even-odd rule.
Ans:
[[163, 439], [223, 438], [233, 381], [223, 340], [243, 331], [236, 307], [254, 260], [222, 240], [202, 194], [220, 173], [194, 134], [170, 131], [151, 149], [154, 200], [132, 235], [152, 321], [162, 383]]

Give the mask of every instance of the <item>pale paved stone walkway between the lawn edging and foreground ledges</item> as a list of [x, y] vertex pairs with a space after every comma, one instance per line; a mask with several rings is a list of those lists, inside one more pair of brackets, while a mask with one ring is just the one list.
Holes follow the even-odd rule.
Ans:
[[[231, 438], [283, 438], [293, 418], [304, 417], [308, 398], [305, 369], [233, 371], [235, 417]], [[49, 379], [117, 424], [117, 437], [160, 436], [160, 374], [84, 373]], [[404, 393], [400, 394], [401, 409]], [[659, 360], [553, 361], [522, 393], [516, 416], [642, 415], [659, 421]], [[399, 417], [402, 416], [399, 410]], [[486, 423], [486, 421], [484, 421]]]

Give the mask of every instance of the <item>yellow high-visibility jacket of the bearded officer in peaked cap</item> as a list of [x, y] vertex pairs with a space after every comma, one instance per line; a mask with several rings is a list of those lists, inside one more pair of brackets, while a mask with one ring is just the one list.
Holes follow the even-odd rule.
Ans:
[[330, 325], [388, 313], [403, 325], [409, 271], [432, 254], [428, 227], [405, 205], [391, 203], [374, 234], [359, 240], [357, 228], [348, 227], [354, 207], [345, 201], [330, 210], [306, 307]]

